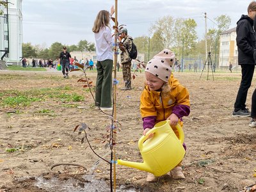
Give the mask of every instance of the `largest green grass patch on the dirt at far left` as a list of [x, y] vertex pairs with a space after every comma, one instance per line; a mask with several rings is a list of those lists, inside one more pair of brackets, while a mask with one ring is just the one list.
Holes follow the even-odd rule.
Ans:
[[6, 97], [3, 99], [4, 106], [17, 107], [17, 106], [30, 106], [31, 102], [40, 101], [41, 99], [35, 97], [25, 97], [20, 95], [17, 97]]

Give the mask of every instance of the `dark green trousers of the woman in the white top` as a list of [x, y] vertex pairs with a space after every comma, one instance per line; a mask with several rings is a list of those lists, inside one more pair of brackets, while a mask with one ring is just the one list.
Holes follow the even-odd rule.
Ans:
[[95, 89], [95, 106], [112, 107], [112, 70], [113, 60], [97, 61], [97, 82]]

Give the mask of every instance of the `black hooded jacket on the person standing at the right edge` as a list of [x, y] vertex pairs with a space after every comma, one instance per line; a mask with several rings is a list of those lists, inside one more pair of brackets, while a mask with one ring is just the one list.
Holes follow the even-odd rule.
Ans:
[[255, 65], [253, 52], [256, 45], [253, 20], [248, 15], [242, 15], [237, 21], [236, 44], [238, 49], [238, 64]]

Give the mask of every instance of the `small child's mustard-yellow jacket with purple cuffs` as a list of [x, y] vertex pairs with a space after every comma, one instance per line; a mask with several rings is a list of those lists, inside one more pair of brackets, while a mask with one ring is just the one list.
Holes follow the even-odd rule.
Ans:
[[143, 128], [152, 128], [157, 122], [166, 120], [175, 113], [179, 118], [190, 113], [189, 92], [179, 81], [170, 76], [170, 96], [162, 97], [161, 91], [150, 91], [148, 86], [141, 93], [140, 111]]

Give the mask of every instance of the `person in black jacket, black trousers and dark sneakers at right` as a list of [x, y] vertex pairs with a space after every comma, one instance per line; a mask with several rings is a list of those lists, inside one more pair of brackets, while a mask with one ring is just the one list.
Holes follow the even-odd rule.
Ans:
[[246, 108], [246, 97], [248, 89], [252, 84], [252, 77], [255, 68], [253, 51], [256, 44], [255, 31], [253, 29], [253, 20], [256, 15], [256, 1], [248, 6], [248, 15], [242, 15], [237, 21], [236, 43], [238, 50], [238, 64], [241, 65], [242, 79], [237, 92], [236, 102], [234, 104], [233, 116], [250, 116], [250, 111]]

